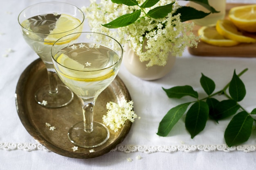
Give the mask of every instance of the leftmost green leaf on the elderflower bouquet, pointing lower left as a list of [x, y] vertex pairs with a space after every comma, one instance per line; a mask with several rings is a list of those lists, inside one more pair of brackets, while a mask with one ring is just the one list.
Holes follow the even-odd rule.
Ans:
[[105, 26], [107, 28], [119, 28], [122, 26], [128, 26], [134, 23], [139, 18], [140, 13], [141, 13], [141, 9], [134, 11], [133, 13], [130, 13], [130, 14], [122, 15], [117, 19], [109, 22], [108, 24], [104, 24], [102, 26]]

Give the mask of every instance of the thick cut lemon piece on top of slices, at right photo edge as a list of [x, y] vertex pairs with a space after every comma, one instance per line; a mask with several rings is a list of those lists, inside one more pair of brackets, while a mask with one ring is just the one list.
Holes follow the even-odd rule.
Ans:
[[243, 31], [256, 32], [256, 4], [231, 8], [229, 19]]

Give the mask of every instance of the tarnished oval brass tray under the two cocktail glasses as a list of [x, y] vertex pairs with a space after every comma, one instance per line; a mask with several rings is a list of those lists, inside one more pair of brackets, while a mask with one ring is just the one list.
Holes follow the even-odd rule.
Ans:
[[[118, 132], [110, 130], [108, 141], [94, 148], [94, 152], [90, 153], [90, 148], [81, 147], [73, 151], [74, 144], [69, 141], [67, 131], [73, 124], [83, 120], [81, 102], [74, 96], [74, 100], [69, 105], [58, 109], [46, 109], [38, 105], [34, 99], [34, 93], [47, 82], [45, 65], [37, 59], [20, 76], [16, 87], [16, 107], [20, 121], [28, 133], [54, 153], [72, 158], [98, 157], [115, 148], [130, 131], [132, 123], [126, 121]], [[123, 81], [117, 76], [98, 97], [94, 108], [94, 120], [102, 122], [102, 116], [107, 112], [107, 102], [120, 102], [121, 100], [129, 101], [131, 97]], [[45, 123], [55, 126], [56, 129], [49, 130]]]

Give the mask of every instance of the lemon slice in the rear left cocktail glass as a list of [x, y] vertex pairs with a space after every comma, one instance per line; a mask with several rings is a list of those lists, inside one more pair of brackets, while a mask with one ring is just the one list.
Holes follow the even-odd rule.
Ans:
[[[67, 14], [61, 14], [61, 16], [56, 21], [55, 28], [50, 31], [50, 34], [45, 38], [44, 44], [52, 45], [55, 41], [65, 35], [81, 32], [83, 26], [79, 26], [80, 24], [81, 22], [77, 18]], [[63, 39], [63, 41], [57, 44], [66, 44], [74, 39], [77, 39], [79, 36], [79, 34], [67, 36], [65, 39]]]

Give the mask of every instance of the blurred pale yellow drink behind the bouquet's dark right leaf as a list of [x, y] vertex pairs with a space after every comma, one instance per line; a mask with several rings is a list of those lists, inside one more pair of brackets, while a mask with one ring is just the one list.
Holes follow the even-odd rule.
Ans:
[[[204, 18], [192, 20], [195, 24], [200, 26], [215, 26], [218, 20], [222, 20], [225, 17], [226, 13], [226, 0], [208, 0], [209, 4], [216, 9], [216, 11], [220, 11], [219, 13], [211, 13]], [[205, 13], [209, 13], [210, 11], [197, 4], [195, 2], [189, 2], [189, 7], [193, 7], [199, 11], [204, 11]]]

